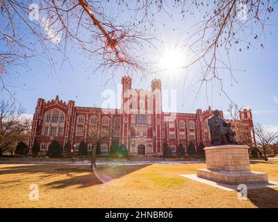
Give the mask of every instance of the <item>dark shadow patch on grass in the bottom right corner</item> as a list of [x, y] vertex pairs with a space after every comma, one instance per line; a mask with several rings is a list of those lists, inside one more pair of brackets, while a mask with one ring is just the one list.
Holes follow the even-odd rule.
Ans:
[[278, 191], [276, 189], [249, 189], [247, 197], [256, 207], [278, 208]]

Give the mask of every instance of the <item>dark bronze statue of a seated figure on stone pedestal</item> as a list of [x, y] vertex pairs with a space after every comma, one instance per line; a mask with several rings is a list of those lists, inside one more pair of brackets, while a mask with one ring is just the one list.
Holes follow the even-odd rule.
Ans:
[[208, 119], [209, 130], [211, 131], [211, 144], [219, 146], [222, 144], [235, 144], [234, 131], [231, 130], [231, 123], [226, 123], [222, 119], [218, 110], [215, 110], [214, 116]]

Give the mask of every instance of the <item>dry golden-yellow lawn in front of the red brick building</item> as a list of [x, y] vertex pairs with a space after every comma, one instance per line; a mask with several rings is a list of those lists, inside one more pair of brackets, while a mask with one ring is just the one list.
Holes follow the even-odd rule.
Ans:
[[[253, 171], [278, 180], [278, 162], [256, 162]], [[100, 167], [0, 164], [0, 207], [278, 207], [278, 188], [252, 189], [248, 200], [179, 176], [205, 164]], [[105, 182], [104, 182], [105, 181]], [[28, 198], [29, 185], [40, 199]]]

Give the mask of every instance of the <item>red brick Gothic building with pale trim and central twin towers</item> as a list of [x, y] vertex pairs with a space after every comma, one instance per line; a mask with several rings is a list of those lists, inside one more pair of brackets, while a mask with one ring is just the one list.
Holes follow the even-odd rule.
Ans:
[[[199, 144], [211, 144], [208, 118], [213, 110], [196, 110], [195, 113], [162, 112], [161, 80], [152, 80], [152, 89], [132, 89], [131, 77], [122, 77], [120, 109], [87, 108], [74, 101], [61, 101], [58, 96], [51, 101], [38, 99], [33, 116], [29, 150], [40, 146], [40, 154], [47, 152], [55, 139], [62, 147], [69, 143], [77, 152], [85, 141], [88, 152], [94, 142], [90, 135], [92, 126], [101, 130], [101, 153], [108, 153], [111, 143], [117, 140], [126, 144], [129, 155], [161, 155], [167, 143], [173, 153], [183, 145], [195, 149]], [[220, 112], [221, 117], [223, 113]], [[243, 110], [236, 126], [241, 126], [249, 140], [254, 140], [251, 110]], [[235, 126], [235, 123], [231, 124]], [[237, 129], [235, 128], [235, 129]]]

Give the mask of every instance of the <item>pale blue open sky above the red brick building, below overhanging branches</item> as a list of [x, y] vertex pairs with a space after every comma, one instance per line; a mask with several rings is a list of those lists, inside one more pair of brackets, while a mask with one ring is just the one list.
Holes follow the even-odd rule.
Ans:
[[[132, 12], [129, 12], [132, 13]], [[173, 13], [175, 15], [175, 13]], [[128, 15], [125, 15], [128, 17]], [[122, 18], [123, 20], [125, 17]], [[184, 31], [193, 24], [193, 19], [182, 21], [179, 13], [177, 17], [173, 17], [171, 21], [165, 15], [158, 15], [156, 20], [161, 22], [157, 24], [159, 38], [161, 42], [154, 42], [159, 49], [149, 51], [149, 58], [159, 60], [159, 54], [165, 48], [172, 47], [174, 44], [183, 45], [181, 37]], [[278, 21], [278, 15], [272, 17], [272, 22]], [[173, 31], [174, 30], [174, 31]], [[245, 33], [247, 38], [252, 38]], [[261, 42], [261, 47], [251, 48], [243, 52], [231, 51], [232, 65], [235, 69], [245, 71], [234, 71], [234, 76], [238, 83], [231, 86], [230, 77], [227, 76], [223, 80], [225, 92], [230, 98], [240, 106], [246, 106], [253, 110], [254, 122], [262, 123], [268, 128], [278, 129], [278, 28], [277, 26], [266, 26]], [[186, 53], [185, 53], [186, 54]], [[38, 62], [35, 58], [28, 61], [29, 68], [13, 67], [13, 73], [7, 78], [10, 92], [15, 93], [15, 98], [26, 108], [26, 113], [33, 114], [35, 104], [38, 98], [46, 100], [54, 99], [56, 94], [60, 99], [68, 101], [73, 99], [79, 106], [100, 106], [104, 101], [101, 93], [104, 89], [117, 89], [117, 83], [120, 83], [125, 73], [118, 74], [113, 80], [109, 73], [95, 71], [94, 61], [88, 60], [82, 52], [76, 48], [68, 49], [68, 56], [72, 67], [65, 63], [60, 67], [60, 56], [56, 57], [56, 73], [43, 62]], [[186, 60], [186, 56], [184, 58]], [[30, 69], [31, 68], [31, 69]], [[15, 72], [17, 71], [17, 73]], [[161, 78], [163, 89], [177, 89], [177, 111], [178, 112], [195, 112], [197, 108], [206, 110], [208, 105], [213, 108], [226, 111], [230, 101], [224, 94], [220, 94], [217, 87], [213, 87], [212, 94], [207, 103], [205, 88], [202, 88], [199, 96], [190, 90], [191, 80], [195, 79], [197, 68], [181, 71], [161, 71], [147, 78], [133, 74], [133, 87], [149, 89], [152, 78]], [[186, 84], [183, 85], [185, 76]], [[194, 82], [194, 81], [193, 81]], [[195, 82], [194, 82], [195, 83]], [[3, 99], [10, 99], [10, 95], [3, 92]]]

